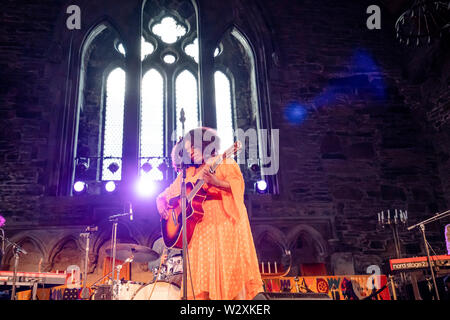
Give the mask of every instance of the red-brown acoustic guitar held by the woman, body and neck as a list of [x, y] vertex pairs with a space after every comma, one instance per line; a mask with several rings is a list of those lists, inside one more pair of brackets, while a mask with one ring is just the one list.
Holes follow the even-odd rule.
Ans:
[[[214, 174], [217, 167], [224, 159], [234, 156], [241, 150], [242, 144], [236, 141], [233, 146], [228, 148], [220, 157], [216, 158], [209, 168], [209, 172]], [[195, 226], [203, 218], [203, 202], [206, 200], [207, 191], [202, 188], [204, 185], [202, 179], [198, 179], [195, 184], [186, 181], [186, 238], [188, 243], [194, 233]], [[161, 220], [161, 233], [164, 244], [167, 248], [183, 248], [183, 225], [181, 212], [181, 197], [177, 195], [168, 201], [166, 208], [168, 219]]]

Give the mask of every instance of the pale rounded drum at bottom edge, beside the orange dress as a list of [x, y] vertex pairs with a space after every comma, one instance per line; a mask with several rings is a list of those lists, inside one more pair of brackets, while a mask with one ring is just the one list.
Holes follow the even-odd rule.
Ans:
[[[153, 291], [153, 293], [152, 293]], [[180, 300], [180, 287], [167, 281], [149, 283], [137, 290], [131, 300]]]

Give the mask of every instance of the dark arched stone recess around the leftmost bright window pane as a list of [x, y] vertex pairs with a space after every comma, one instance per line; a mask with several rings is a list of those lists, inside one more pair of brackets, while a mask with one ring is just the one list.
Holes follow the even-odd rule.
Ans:
[[[109, 44], [112, 42], [112, 46]], [[99, 22], [93, 24], [86, 31], [79, 47], [77, 68], [76, 104], [73, 117], [77, 123], [73, 132], [73, 156], [87, 157], [100, 156], [102, 154], [101, 141], [103, 139], [103, 113], [105, 110], [104, 99], [106, 79], [115, 68], [121, 68], [126, 73], [125, 58], [117, 51], [110, 50], [122, 43], [126, 48], [127, 43], [115, 23], [109, 17], [102, 17]], [[99, 68], [92, 68], [92, 62], [100, 64]], [[96, 92], [96, 95], [86, 95], [86, 92]], [[88, 116], [89, 115], [89, 116]], [[100, 170], [101, 161], [94, 160], [91, 163], [89, 173], [84, 179], [96, 179]], [[77, 172], [75, 171], [75, 179]]]

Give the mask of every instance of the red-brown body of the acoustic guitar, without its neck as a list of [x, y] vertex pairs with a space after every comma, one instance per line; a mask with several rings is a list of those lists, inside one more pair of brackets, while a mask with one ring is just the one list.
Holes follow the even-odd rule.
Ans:
[[[186, 195], [189, 195], [194, 188], [191, 182], [186, 182]], [[186, 237], [187, 242], [191, 241], [196, 224], [203, 218], [203, 202], [206, 199], [206, 191], [201, 188], [194, 198], [186, 204]], [[183, 216], [181, 212], [181, 198], [174, 197], [169, 200], [169, 218], [161, 221], [161, 233], [164, 244], [168, 248], [183, 249]]]

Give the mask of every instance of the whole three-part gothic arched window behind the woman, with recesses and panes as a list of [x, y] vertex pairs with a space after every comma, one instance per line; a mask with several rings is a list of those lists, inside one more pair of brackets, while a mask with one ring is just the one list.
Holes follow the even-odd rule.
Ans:
[[[170, 8], [166, 3], [147, 1], [142, 15], [138, 148], [139, 175], [148, 180], [168, 177], [170, 149], [182, 135], [181, 109], [186, 116], [185, 132], [203, 125], [202, 113], [208, 112], [199, 106], [195, 10], [190, 1], [173, 0]], [[124, 118], [128, 114], [124, 107], [127, 45], [105, 23], [91, 31], [82, 51], [72, 183], [118, 181], [123, 178]], [[257, 131], [261, 127], [255, 68], [247, 39], [231, 28], [214, 52], [215, 120], [222, 151], [233, 143], [236, 129]], [[256, 158], [261, 156], [259, 145], [257, 149]], [[241, 166], [247, 190], [263, 177], [262, 170], [249, 168]]]

